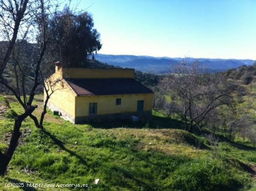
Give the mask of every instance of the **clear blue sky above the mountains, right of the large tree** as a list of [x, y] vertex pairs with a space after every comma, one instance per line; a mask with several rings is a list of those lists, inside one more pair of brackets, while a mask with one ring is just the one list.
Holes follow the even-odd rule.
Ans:
[[256, 0], [78, 2], [101, 33], [99, 53], [256, 59]]

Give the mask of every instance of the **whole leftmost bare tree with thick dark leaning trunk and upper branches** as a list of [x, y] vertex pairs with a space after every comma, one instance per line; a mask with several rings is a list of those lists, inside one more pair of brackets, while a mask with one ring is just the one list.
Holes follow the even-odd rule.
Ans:
[[[58, 7], [55, 5], [55, 7]], [[36, 122], [32, 114], [37, 108], [33, 105], [34, 95], [40, 84], [40, 66], [47, 49], [49, 36], [47, 35], [47, 16], [52, 14], [53, 5], [50, 0], [0, 0], [0, 30], [1, 38], [6, 47], [1, 50], [3, 57], [0, 58], [0, 84], [9, 89], [16, 97], [24, 112], [15, 118], [10, 143], [3, 153], [0, 151], [0, 175], [6, 172], [13, 153], [18, 145], [21, 132], [20, 127], [24, 119], [30, 116]], [[26, 89], [22, 78], [27, 77], [27, 68], [20, 63], [20, 47], [24, 40], [34, 40], [37, 43], [36, 53], [31, 57], [30, 69], [34, 72], [32, 86]], [[14, 48], [15, 46], [15, 48]], [[14, 50], [15, 49], [15, 50]], [[16, 85], [13, 87], [4, 79], [3, 72], [10, 58], [14, 62], [14, 79]], [[18, 72], [19, 70], [19, 72]], [[21, 78], [18, 76], [21, 75]], [[21, 82], [19, 81], [21, 79]]]

